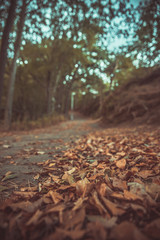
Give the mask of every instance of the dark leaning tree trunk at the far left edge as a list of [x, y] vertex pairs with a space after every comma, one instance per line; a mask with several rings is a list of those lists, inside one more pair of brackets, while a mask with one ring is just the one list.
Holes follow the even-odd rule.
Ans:
[[7, 18], [4, 31], [3, 31], [3, 36], [2, 36], [2, 44], [0, 49], [0, 106], [1, 106], [1, 100], [2, 100], [5, 65], [7, 61], [9, 33], [11, 32], [11, 29], [14, 23], [16, 4], [17, 4], [17, 0], [11, 0], [11, 4], [8, 11], [8, 18]]

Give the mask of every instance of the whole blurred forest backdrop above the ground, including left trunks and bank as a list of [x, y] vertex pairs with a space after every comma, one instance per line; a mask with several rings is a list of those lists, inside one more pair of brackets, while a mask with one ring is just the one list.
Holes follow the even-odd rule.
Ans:
[[[1, 1], [0, 20], [0, 121], [6, 129], [22, 122], [39, 127], [70, 110], [104, 122], [146, 115], [154, 123], [155, 108], [158, 119], [159, 0]], [[145, 81], [154, 71], [157, 77]], [[128, 82], [125, 95], [120, 89]]]

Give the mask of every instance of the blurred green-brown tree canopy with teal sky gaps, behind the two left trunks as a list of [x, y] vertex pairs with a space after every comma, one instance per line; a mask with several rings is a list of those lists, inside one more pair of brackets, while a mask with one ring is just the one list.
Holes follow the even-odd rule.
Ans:
[[[23, 2], [24, 26], [14, 60]], [[15, 1], [14, 20], [11, 3], [0, 3], [1, 57], [6, 26], [13, 22], [5, 42], [7, 59], [1, 60], [1, 119], [11, 95], [13, 61], [12, 120], [67, 113], [72, 92], [79, 108], [96, 97], [101, 105], [106, 92], [132, 78], [137, 68], [159, 64], [159, 0], [137, 0], [134, 5], [131, 0]]]

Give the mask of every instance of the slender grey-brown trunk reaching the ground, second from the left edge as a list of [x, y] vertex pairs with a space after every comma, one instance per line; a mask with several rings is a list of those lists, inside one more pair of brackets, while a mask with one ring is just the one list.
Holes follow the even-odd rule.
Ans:
[[8, 96], [7, 96], [7, 105], [5, 109], [5, 127], [7, 129], [11, 126], [12, 120], [12, 106], [13, 106], [13, 95], [14, 95], [14, 87], [15, 87], [15, 80], [16, 80], [16, 71], [17, 71], [17, 59], [19, 57], [20, 46], [22, 41], [22, 33], [23, 27], [25, 23], [25, 15], [26, 15], [26, 0], [23, 0], [23, 5], [20, 13], [18, 29], [17, 29], [17, 37], [15, 42], [15, 49], [14, 49], [14, 58], [11, 64], [10, 70], [10, 78], [9, 78], [9, 89], [8, 89]]

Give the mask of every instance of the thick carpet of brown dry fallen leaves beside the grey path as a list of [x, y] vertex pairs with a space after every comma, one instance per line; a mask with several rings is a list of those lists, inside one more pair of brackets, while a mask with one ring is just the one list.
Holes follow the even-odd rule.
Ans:
[[1, 239], [160, 236], [160, 130], [108, 129], [71, 143], [0, 206]]

